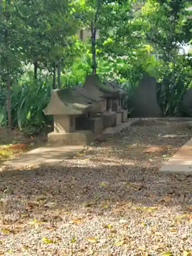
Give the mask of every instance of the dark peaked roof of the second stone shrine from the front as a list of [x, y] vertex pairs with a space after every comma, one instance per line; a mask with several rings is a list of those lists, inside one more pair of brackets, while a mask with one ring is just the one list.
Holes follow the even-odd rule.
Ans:
[[86, 77], [83, 88], [90, 95], [95, 95], [97, 97], [117, 97], [119, 95], [119, 90], [112, 87], [110, 84], [103, 84], [97, 74], [91, 74]]

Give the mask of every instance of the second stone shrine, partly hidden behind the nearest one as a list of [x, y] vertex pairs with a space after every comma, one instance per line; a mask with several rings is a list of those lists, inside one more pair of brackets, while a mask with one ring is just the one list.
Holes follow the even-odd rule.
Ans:
[[92, 116], [102, 116], [103, 133], [112, 133], [112, 125], [116, 120], [116, 113], [112, 111], [112, 98], [119, 95], [119, 90], [102, 84], [97, 74], [91, 74], [86, 77], [83, 88], [86, 89], [89, 95], [99, 97], [102, 101], [96, 103], [94, 111], [90, 111]]

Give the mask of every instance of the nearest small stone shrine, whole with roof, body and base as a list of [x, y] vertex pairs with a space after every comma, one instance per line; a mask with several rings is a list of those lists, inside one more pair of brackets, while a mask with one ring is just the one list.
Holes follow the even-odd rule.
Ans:
[[[87, 117], [89, 111], [94, 111], [97, 100], [99, 99], [87, 97], [87, 92], [82, 87], [53, 90], [51, 100], [44, 110], [46, 115], [54, 116], [54, 132], [48, 134], [48, 143], [90, 144], [94, 140], [94, 132], [91, 129], [77, 131], [76, 119], [79, 116]], [[101, 118], [100, 123], [102, 127]]]

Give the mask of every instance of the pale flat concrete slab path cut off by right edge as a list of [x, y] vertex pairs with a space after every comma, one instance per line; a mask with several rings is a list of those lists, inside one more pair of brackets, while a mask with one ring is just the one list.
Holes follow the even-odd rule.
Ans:
[[192, 173], [192, 138], [163, 164], [160, 172]]

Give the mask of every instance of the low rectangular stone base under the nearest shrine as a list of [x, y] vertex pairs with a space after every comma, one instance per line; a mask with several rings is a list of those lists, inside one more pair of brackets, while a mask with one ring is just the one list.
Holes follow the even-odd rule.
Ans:
[[48, 143], [50, 145], [90, 144], [94, 141], [92, 131], [76, 131], [75, 133], [49, 133]]

